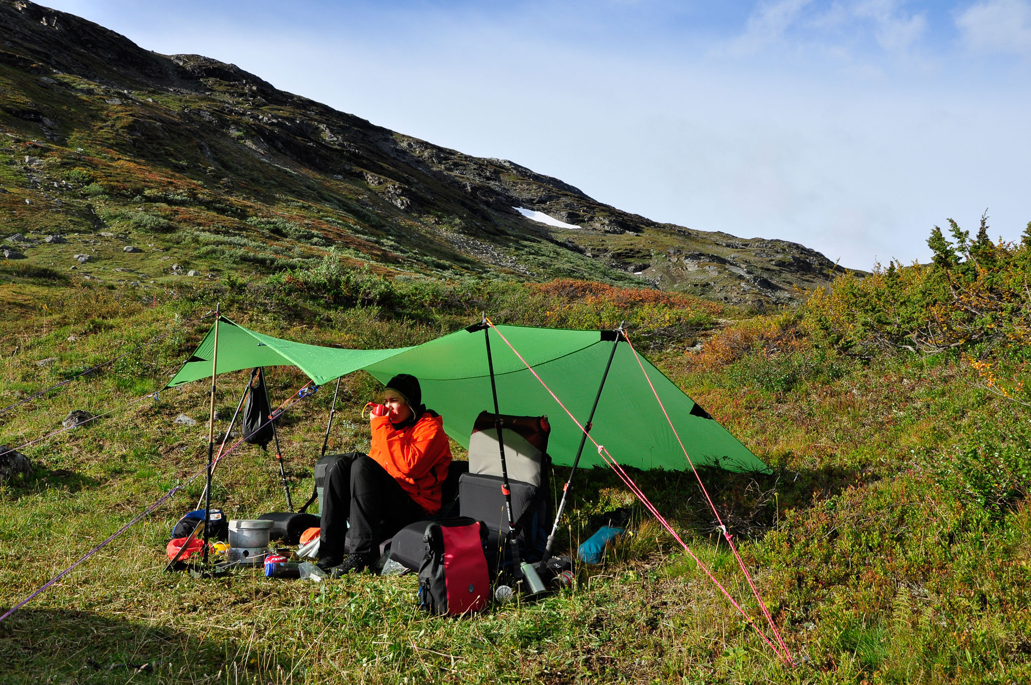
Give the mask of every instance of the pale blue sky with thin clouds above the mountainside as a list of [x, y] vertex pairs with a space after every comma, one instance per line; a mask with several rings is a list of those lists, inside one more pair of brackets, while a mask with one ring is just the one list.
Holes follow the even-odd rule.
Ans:
[[1031, 0], [49, 0], [658, 221], [842, 266], [1031, 221]]

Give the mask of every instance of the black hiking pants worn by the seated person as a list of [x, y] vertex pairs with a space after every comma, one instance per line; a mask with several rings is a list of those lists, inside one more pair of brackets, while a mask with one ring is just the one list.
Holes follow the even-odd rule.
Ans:
[[333, 467], [323, 505], [319, 556], [337, 560], [345, 554], [378, 556], [380, 542], [428, 516], [393, 476], [361, 452], [345, 454]]

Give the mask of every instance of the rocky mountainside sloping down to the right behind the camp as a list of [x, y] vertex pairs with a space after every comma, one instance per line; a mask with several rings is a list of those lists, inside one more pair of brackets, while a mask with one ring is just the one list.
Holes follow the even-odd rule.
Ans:
[[0, 29], [8, 260], [146, 284], [333, 249], [399, 274], [565, 276], [754, 304], [840, 270], [795, 243], [657, 224], [31, 2], [0, 0]]

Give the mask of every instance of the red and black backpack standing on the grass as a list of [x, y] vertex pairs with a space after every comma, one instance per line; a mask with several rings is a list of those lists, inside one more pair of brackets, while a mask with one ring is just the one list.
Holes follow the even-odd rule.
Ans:
[[468, 516], [433, 520], [423, 536], [419, 607], [440, 616], [480, 611], [490, 598], [487, 524]]

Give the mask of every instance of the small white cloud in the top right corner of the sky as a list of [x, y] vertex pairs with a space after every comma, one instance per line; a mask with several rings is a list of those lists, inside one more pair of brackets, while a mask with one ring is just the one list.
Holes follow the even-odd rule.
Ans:
[[956, 20], [964, 44], [978, 53], [1031, 57], [1031, 2], [988, 0]]

